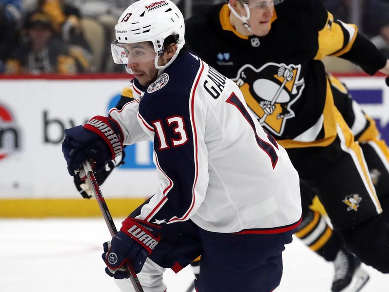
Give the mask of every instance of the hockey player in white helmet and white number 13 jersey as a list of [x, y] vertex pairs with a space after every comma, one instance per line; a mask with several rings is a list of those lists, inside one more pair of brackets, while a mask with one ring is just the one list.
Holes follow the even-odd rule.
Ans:
[[[135, 75], [135, 100], [65, 130], [68, 171], [87, 159], [98, 171], [123, 145], [151, 138], [158, 184], [104, 244], [106, 273], [127, 277], [128, 262], [139, 273], [146, 258], [154, 273], [178, 272], [201, 254], [198, 291], [274, 290], [284, 244], [301, 222], [286, 151], [233, 81], [182, 50], [184, 20], [173, 2], [137, 1], [115, 30], [113, 57]], [[160, 275], [141, 279], [146, 292], [166, 290]]]

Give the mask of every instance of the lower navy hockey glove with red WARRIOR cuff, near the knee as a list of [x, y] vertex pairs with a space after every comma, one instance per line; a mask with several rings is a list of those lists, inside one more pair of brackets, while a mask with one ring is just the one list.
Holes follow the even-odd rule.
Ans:
[[122, 228], [103, 245], [106, 274], [116, 279], [128, 278], [124, 267], [129, 263], [135, 273], [141, 272], [144, 261], [158, 244], [160, 226], [133, 218], [123, 221]]

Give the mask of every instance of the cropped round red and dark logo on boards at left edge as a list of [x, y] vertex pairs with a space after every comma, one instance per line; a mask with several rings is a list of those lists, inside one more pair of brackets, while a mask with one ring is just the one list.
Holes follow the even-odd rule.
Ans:
[[20, 149], [19, 133], [11, 111], [0, 104], [0, 160]]

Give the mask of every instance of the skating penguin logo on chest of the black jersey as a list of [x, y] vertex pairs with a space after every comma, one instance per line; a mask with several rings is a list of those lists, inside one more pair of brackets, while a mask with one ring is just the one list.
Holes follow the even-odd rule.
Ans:
[[243, 66], [236, 83], [261, 125], [281, 136], [288, 119], [295, 117], [293, 104], [304, 89], [301, 65], [267, 63], [259, 69]]

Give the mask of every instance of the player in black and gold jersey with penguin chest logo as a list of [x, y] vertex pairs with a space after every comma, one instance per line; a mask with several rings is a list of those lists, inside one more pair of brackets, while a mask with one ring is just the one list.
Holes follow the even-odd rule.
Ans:
[[389, 62], [355, 25], [335, 20], [317, 0], [273, 4], [215, 5], [186, 22], [187, 43], [238, 83], [263, 127], [287, 149], [301, 180], [318, 194], [347, 248], [388, 273], [388, 227], [321, 60], [339, 56], [369, 74], [389, 74]]

